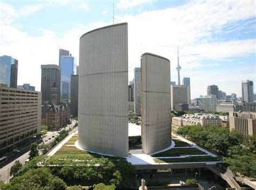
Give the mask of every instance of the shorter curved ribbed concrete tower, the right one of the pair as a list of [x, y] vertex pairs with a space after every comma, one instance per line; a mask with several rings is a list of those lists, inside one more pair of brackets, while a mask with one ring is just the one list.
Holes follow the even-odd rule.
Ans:
[[142, 151], [151, 154], [171, 145], [170, 61], [144, 53], [142, 69]]

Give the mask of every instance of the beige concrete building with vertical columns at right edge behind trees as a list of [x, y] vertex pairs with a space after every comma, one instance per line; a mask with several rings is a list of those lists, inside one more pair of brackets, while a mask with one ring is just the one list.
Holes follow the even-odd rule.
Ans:
[[256, 135], [255, 112], [230, 112], [230, 131], [235, 130], [244, 135]]

